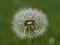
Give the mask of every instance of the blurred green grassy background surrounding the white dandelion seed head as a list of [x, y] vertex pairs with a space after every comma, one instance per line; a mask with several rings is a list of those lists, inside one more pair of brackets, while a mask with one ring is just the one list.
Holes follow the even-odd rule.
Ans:
[[33, 39], [34, 45], [60, 45], [60, 0], [0, 0], [0, 45], [31, 45], [29, 39], [21, 40], [12, 30], [13, 15], [29, 7], [43, 10], [49, 20], [48, 30]]

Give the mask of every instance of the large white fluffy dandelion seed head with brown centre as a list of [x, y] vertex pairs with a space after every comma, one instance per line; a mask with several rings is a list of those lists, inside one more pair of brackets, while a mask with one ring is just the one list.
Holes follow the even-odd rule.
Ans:
[[43, 35], [48, 27], [48, 19], [41, 10], [24, 8], [13, 17], [13, 31], [21, 39], [37, 38]]

